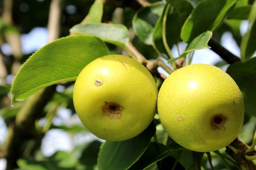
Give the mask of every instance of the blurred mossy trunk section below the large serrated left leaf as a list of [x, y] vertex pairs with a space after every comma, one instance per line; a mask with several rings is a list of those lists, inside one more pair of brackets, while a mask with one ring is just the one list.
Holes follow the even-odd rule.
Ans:
[[41, 117], [45, 105], [54, 92], [55, 85], [52, 85], [30, 96], [19, 111], [15, 123], [9, 125], [11, 133], [7, 139], [6, 170], [13, 170], [17, 167], [17, 159], [23, 154], [24, 142], [44, 136], [36, 129], [35, 121]]

